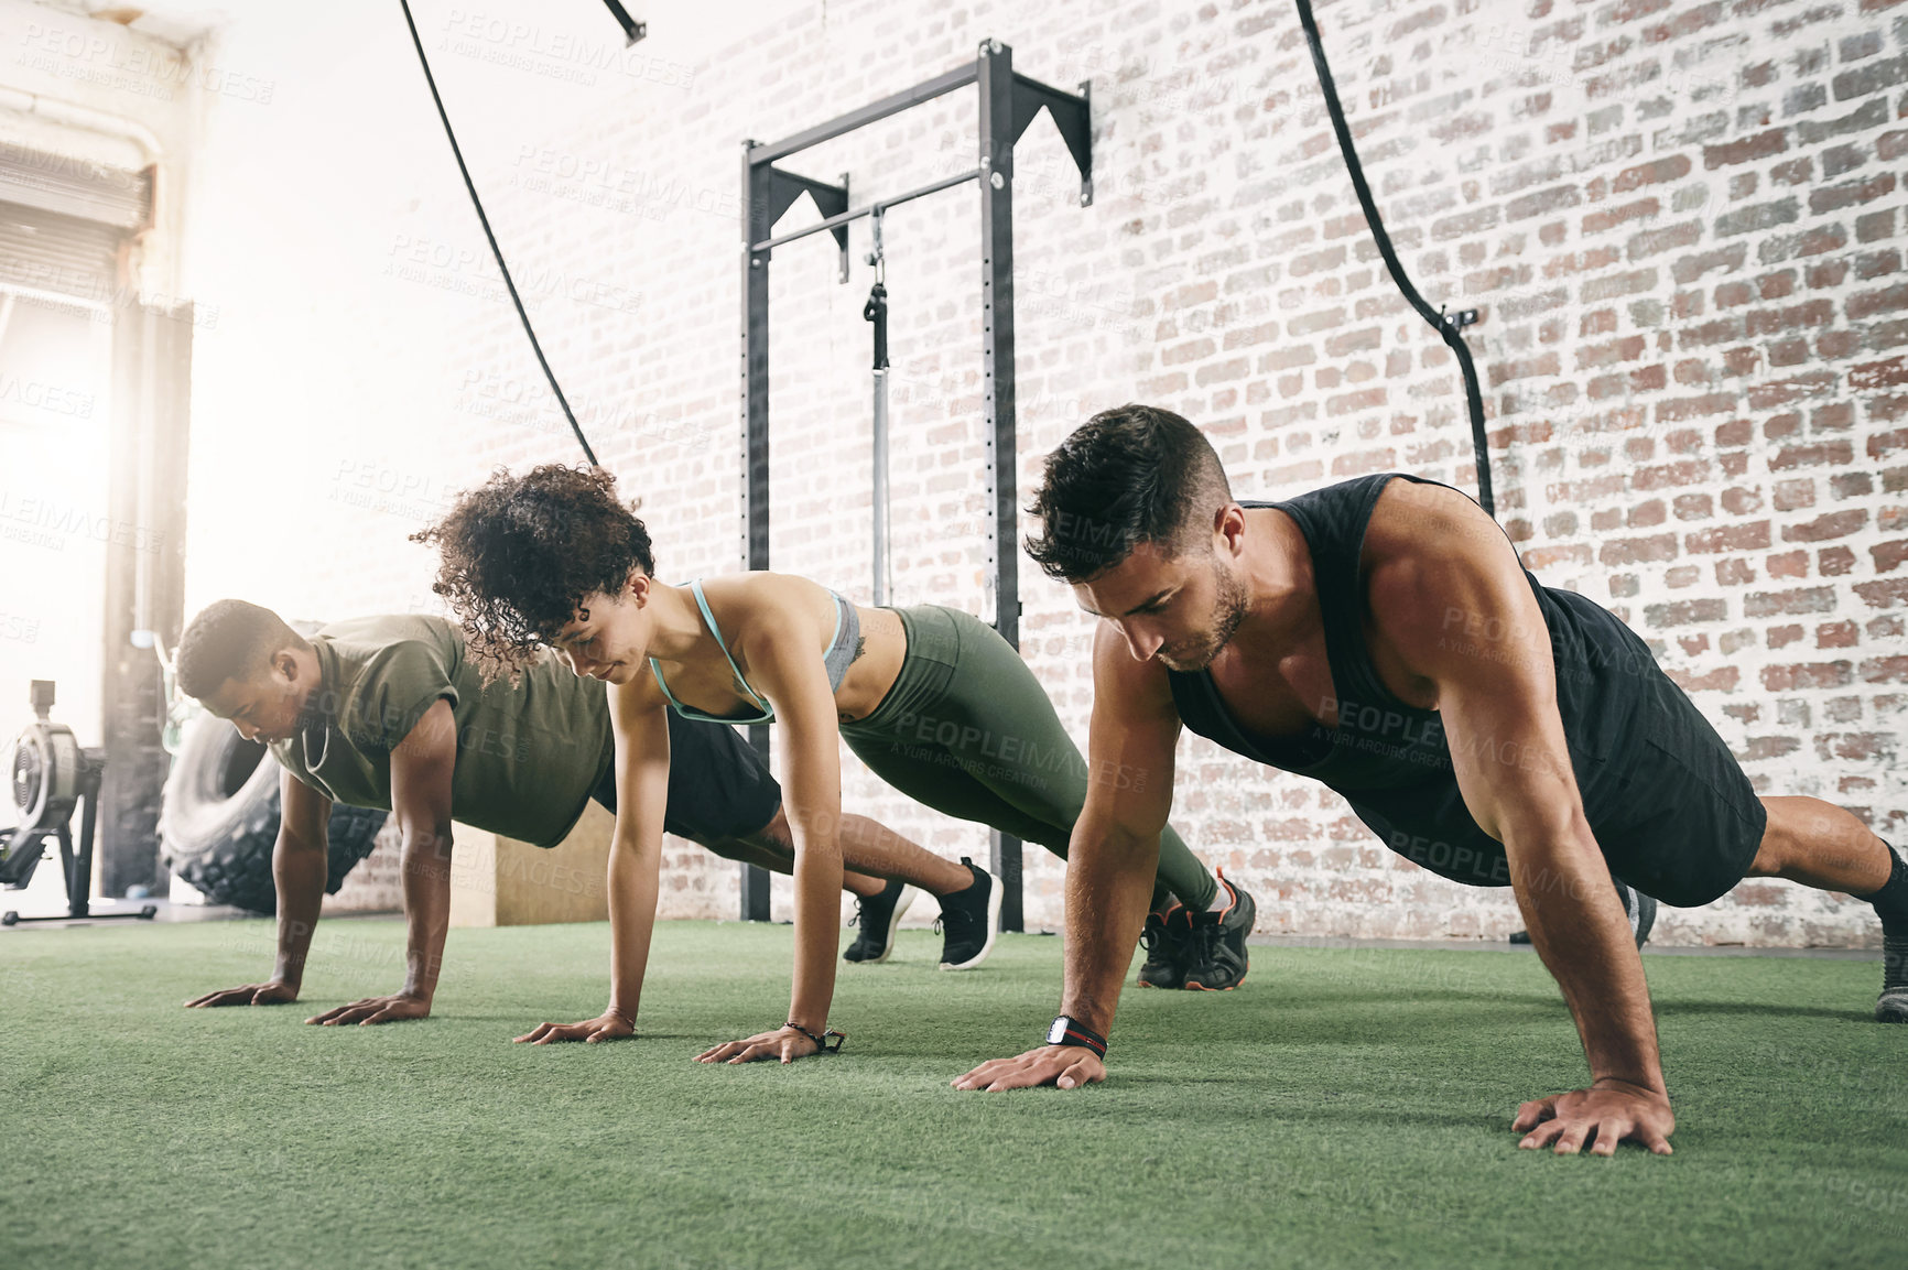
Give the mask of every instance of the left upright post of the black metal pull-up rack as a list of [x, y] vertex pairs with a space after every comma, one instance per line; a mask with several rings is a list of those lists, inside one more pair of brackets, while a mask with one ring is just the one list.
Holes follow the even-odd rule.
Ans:
[[[769, 566], [769, 236], [773, 168], [750, 162], [742, 143], [742, 524], [750, 568]], [[769, 725], [748, 730], [748, 742], [769, 761]], [[742, 866], [742, 921], [769, 919], [769, 871]]]

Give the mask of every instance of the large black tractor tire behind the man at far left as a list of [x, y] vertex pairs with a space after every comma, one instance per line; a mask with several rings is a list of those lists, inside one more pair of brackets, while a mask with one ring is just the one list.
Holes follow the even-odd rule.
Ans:
[[[185, 725], [158, 809], [160, 856], [214, 904], [277, 913], [271, 850], [279, 839], [279, 761], [233, 725], [200, 715]], [[324, 894], [370, 854], [389, 812], [332, 803]]]

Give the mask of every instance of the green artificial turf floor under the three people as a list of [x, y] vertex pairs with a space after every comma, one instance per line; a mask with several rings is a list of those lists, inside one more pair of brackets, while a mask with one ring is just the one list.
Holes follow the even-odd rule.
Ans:
[[321, 927], [303, 1001], [185, 1011], [259, 921], [0, 934], [0, 1266], [1904, 1266], [1908, 1028], [1872, 961], [1649, 957], [1677, 1154], [1515, 1150], [1580, 1083], [1530, 955], [1255, 948], [1233, 993], [1128, 990], [1112, 1079], [948, 1089], [1053, 1014], [1059, 940], [843, 967], [834, 1058], [706, 1068], [782, 1020], [786, 927], [662, 923], [643, 1035], [601, 925], [456, 931], [437, 1014], [399, 921]]

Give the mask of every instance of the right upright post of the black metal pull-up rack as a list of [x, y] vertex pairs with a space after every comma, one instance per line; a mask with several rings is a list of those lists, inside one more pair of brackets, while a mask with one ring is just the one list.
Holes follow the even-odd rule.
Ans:
[[[986, 570], [994, 580], [994, 629], [1021, 646], [1013, 418], [1013, 50], [981, 44], [981, 385], [986, 408]], [[1000, 929], [1021, 931], [1021, 839], [992, 831], [990, 864], [1002, 881]]]

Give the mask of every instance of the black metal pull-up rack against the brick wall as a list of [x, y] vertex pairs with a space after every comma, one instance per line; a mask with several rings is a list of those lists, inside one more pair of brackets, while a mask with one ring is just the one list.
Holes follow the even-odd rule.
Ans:
[[[849, 206], [847, 175], [838, 185], [777, 168], [777, 160], [813, 145], [855, 132], [864, 124], [933, 101], [967, 84], [981, 88], [981, 128], [977, 164], [969, 172], [943, 177], [920, 189]], [[1046, 109], [1080, 168], [1080, 206], [1093, 202], [1093, 128], [1089, 86], [1078, 93], [1049, 88], [1013, 71], [1013, 50], [1000, 40], [983, 40], [973, 63], [948, 71], [906, 92], [851, 111], [840, 118], [798, 132], [767, 145], [742, 143], [742, 418], [744, 471], [742, 509], [750, 568], [769, 566], [769, 257], [778, 246], [819, 233], [832, 233], [841, 254], [841, 282], [847, 282], [847, 225], [878, 215], [912, 198], [935, 195], [967, 181], [981, 191], [981, 326], [983, 399], [986, 408], [986, 555], [994, 574], [994, 629], [1021, 646], [1021, 584], [1015, 513], [1015, 412], [1013, 412], [1013, 145], [1034, 116]], [[822, 219], [803, 229], [771, 236], [775, 223], [801, 196], [809, 195]], [[752, 728], [752, 744], [769, 755], [769, 728]], [[1002, 931], [1023, 929], [1021, 841], [996, 831], [990, 852], [992, 871], [1004, 883]], [[769, 919], [769, 875], [742, 866], [742, 919]]]

